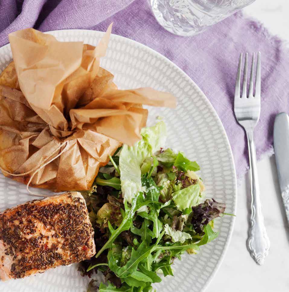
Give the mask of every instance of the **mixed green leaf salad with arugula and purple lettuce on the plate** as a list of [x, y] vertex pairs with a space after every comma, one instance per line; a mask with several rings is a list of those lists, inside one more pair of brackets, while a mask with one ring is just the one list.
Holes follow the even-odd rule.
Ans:
[[173, 276], [175, 258], [197, 253], [218, 236], [213, 222], [225, 204], [204, 199], [197, 162], [164, 148], [164, 122], [141, 135], [135, 145], [119, 148], [92, 189], [82, 192], [96, 255], [79, 271], [89, 277], [100, 271], [105, 279], [92, 280], [88, 291], [153, 291], [153, 283]]

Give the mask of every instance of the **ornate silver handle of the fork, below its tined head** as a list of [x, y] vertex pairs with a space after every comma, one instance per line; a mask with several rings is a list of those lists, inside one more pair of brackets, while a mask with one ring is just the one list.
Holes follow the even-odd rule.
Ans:
[[264, 225], [260, 201], [260, 188], [257, 173], [256, 149], [253, 131], [247, 131], [250, 163], [250, 182], [251, 182], [251, 218], [249, 227], [249, 238], [247, 247], [251, 257], [257, 264], [263, 264], [268, 255], [270, 241]]

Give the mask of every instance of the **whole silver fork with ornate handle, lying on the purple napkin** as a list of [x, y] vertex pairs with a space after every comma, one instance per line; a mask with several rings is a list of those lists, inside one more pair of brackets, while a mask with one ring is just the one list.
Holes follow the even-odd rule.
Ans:
[[261, 209], [260, 188], [256, 164], [256, 150], [253, 135], [255, 126], [257, 125], [260, 118], [261, 110], [261, 68], [260, 68], [261, 53], [258, 52], [255, 96], [253, 96], [254, 57], [255, 54], [253, 54], [252, 59], [249, 95], [247, 96], [248, 53], [246, 53], [242, 96], [240, 96], [242, 54], [240, 55], [235, 89], [234, 112], [237, 121], [246, 131], [249, 148], [250, 181], [251, 181], [251, 219], [249, 237], [247, 240], [247, 248], [250, 252], [250, 255], [257, 262], [257, 264], [263, 264], [264, 259], [269, 252], [270, 241], [265, 229], [264, 217], [262, 215]]

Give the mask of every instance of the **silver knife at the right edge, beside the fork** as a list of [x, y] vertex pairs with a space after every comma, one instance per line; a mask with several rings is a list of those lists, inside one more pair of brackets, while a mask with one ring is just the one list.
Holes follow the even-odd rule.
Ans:
[[289, 223], [289, 116], [285, 112], [275, 118], [274, 150], [281, 196]]

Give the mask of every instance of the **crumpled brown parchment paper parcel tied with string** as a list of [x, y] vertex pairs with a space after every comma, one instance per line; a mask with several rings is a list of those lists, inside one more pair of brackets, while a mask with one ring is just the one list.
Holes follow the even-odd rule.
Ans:
[[151, 88], [119, 90], [97, 47], [24, 29], [9, 35], [14, 61], [0, 75], [0, 166], [4, 175], [55, 191], [88, 190], [122, 144], [146, 125], [143, 104], [175, 107]]

